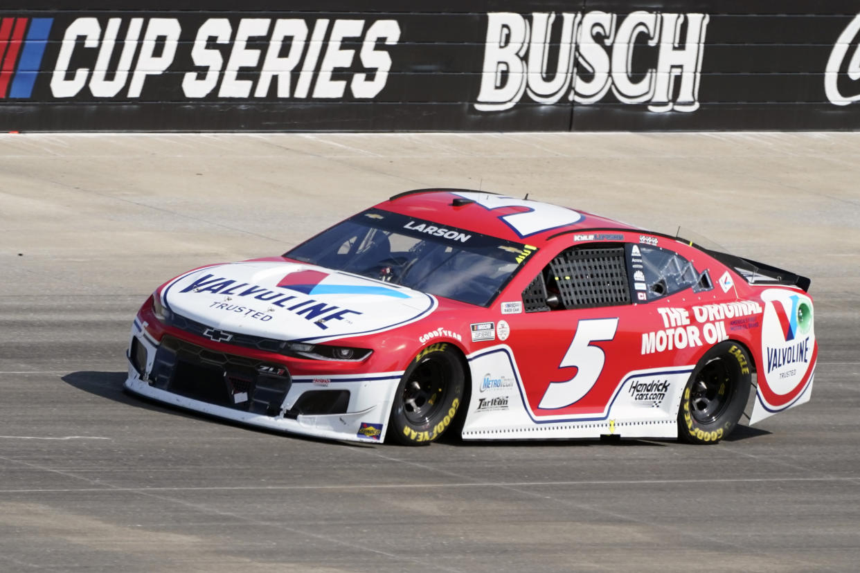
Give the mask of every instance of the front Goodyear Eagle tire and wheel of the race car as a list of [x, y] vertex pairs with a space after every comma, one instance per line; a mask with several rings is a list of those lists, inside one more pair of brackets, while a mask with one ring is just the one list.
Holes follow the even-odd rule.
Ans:
[[438, 440], [457, 417], [465, 380], [463, 363], [448, 344], [427, 346], [397, 387], [387, 435], [409, 446]]

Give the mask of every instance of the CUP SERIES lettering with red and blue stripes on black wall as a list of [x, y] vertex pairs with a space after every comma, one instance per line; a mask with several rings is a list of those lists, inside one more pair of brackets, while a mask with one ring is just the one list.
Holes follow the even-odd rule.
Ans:
[[7, 17], [0, 95], [15, 76], [9, 97], [39, 100], [360, 101], [385, 87], [399, 39], [384, 19]]

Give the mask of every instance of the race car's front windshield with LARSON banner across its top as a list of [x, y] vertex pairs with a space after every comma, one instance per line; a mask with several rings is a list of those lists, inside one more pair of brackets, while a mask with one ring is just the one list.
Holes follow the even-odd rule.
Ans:
[[536, 251], [474, 231], [371, 209], [284, 256], [488, 306]]

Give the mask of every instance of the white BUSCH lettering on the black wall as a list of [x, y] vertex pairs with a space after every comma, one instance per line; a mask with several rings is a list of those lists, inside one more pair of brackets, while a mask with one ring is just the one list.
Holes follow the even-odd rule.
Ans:
[[636, 11], [487, 15], [483, 112], [537, 103], [617, 101], [652, 112], [698, 109], [708, 15]]

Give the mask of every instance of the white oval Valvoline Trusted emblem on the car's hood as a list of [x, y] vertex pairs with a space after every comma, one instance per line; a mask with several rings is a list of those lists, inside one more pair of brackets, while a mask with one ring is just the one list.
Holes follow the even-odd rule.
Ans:
[[188, 272], [161, 290], [171, 313], [226, 332], [323, 342], [420, 320], [435, 297], [290, 262], [248, 261]]

